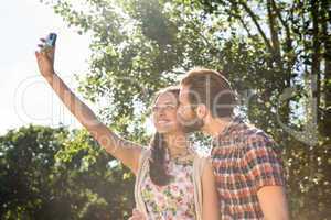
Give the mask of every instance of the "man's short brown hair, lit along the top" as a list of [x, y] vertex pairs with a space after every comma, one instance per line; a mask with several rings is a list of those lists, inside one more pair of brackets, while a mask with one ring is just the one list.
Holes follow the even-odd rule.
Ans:
[[189, 100], [193, 108], [203, 103], [215, 118], [233, 114], [236, 96], [228, 80], [221, 73], [194, 68], [186, 73], [181, 85], [189, 87]]

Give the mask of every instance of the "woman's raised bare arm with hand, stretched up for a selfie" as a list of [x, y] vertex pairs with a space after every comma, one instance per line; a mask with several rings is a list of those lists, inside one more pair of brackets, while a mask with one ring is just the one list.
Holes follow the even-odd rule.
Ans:
[[[44, 41], [44, 40], [42, 40]], [[40, 47], [42, 45], [39, 45]], [[76, 119], [90, 132], [93, 138], [114, 157], [121, 161], [135, 174], [138, 169], [138, 160], [141, 146], [121, 139], [110, 131], [97, 117], [81, 101], [65, 82], [54, 72], [55, 47], [35, 52], [41, 75], [46, 79], [63, 103]]]

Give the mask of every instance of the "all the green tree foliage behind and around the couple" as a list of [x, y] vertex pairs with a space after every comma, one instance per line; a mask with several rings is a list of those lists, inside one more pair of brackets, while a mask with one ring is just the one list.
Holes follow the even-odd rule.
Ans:
[[[282, 150], [292, 219], [330, 219], [330, 1], [42, 3], [93, 35], [77, 80], [109, 128], [148, 144], [152, 95], [194, 66], [222, 70], [238, 113]], [[0, 138], [0, 167], [1, 219], [127, 219], [134, 207], [132, 174], [85, 130], [12, 130]]]

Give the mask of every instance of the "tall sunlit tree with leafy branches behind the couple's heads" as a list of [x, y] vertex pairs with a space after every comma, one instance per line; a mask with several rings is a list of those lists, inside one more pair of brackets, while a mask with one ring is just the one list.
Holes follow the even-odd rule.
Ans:
[[111, 128], [146, 144], [156, 90], [193, 66], [223, 70], [241, 94], [239, 112], [284, 150], [292, 218], [330, 216], [329, 1], [49, 3], [68, 25], [93, 35], [81, 91], [107, 103], [100, 114]]

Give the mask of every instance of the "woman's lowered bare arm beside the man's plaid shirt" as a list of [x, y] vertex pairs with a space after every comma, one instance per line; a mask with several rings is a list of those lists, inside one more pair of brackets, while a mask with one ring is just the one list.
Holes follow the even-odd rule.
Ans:
[[220, 219], [217, 187], [210, 161], [206, 162], [202, 175], [202, 219]]

